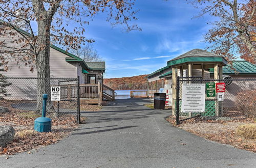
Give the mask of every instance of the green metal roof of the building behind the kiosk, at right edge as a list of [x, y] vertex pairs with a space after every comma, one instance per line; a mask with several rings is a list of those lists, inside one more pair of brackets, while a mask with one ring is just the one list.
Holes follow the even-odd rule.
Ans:
[[[222, 73], [223, 74], [255, 74], [256, 75], [256, 65], [251, 64], [247, 61], [233, 61], [231, 65], [223, 66]], [[210, 73], [214, 73], [214, 68], [209, 69]]]

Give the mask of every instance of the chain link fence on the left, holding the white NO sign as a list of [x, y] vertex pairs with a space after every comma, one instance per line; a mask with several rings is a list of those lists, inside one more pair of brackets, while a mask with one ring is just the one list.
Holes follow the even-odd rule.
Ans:
[[[7, 77], [6, 80], [0, 106], [41, 114], [42, 95], [38, 93], [48, 93], [47, 115], [75, 115], [79, 123], [79, 78]], [[51, 100], [51, 87], [60, 87], [59, 101]]]

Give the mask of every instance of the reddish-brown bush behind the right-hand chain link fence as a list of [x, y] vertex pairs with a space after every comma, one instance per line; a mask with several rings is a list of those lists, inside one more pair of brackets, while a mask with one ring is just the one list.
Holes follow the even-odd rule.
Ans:
[[236, 107], [245, 117], [256, 118], [256, 90], [239, 92]]

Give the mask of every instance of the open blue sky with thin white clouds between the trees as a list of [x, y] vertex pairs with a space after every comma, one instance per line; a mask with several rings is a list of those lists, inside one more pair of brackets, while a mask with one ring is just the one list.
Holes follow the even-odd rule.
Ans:
[[106, 62], [105, 78], [150, 74], [166, 66], [166, 61], [194, 48], [205, 49], [204, 34], [211, 17], [195, 18], [200, 13], [186, 1], [136, 1], [135, 22], [142, 31], [126, 33], [112, 27], [104, 14], [87, 25], [87, 38]]

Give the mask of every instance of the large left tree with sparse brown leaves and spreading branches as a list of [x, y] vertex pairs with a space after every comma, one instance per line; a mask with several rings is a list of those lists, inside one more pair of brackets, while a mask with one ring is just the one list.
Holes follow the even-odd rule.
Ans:
[[[122, 24], [127, 31], [138, 29], [130, 25], [136, 20], [132, 9], [134, 0], [0, 0], [0, 60], [13, 58], [25, 65], [35, 64], [37, 77], [37, 111], [41, 97], [50, 93], [50, 43], [68, 49], [80, 48], [93, 42], [84, 36], [84, 24], [89, 24], [99, 12], [107, 12], [112, 25]], [[28, 32], [25, 32], [28, 31]], [[8, 69], [8, 62], [3, 62]], [[51, 104], [48, 103], [48, 109]]]

